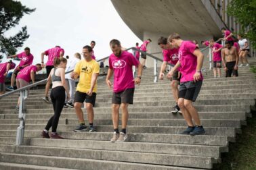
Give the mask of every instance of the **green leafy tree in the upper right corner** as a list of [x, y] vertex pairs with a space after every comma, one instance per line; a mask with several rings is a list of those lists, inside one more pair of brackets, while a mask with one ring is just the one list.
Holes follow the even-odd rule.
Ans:
[[232, 0], [228, 5], [228, 15], [236, 18], [242, 34], [256, 49], [256, 0]]

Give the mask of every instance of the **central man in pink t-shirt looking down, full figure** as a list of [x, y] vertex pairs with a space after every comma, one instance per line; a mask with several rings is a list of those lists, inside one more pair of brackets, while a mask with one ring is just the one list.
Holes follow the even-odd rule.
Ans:
[[[106, 84], [112, 88], [110, 82], [111, 76], [114, 74], [114, 87], [112, 96], [112, 121], [114, 125], [114, 136], [111, 142], [127, 141], [127, 121], [128, 121], [128, 105], [133, 104], [133, 94], [135, 84], [140, 85], [142, 78], [142, 65], [135, 57], [121, 50], [121, 42], [119, 40], [111, 40], [110, 48], [113, 51], [109, 57], [108, 76]], [[133, 78], [133, 65], [137, 66], [137, 78]], [[122, 109], [122, 132], [119, 133], [119, 107]]]

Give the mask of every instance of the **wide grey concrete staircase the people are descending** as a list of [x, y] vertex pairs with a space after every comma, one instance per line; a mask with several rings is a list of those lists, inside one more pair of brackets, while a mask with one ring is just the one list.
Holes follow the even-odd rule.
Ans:
[[[256, 58], [249, 61], [256, 65]], [[77, 125], [74, 109], [64, 109], [58, 132], [64, 140], [40, 137], [47, 119], [53, 114], [44, 103], [43, 90], [30, 90], [26, 101], [26, 131], [23, 146], [15, 146], [18, 94], [0, 100], [0, 169], [212, 169], [221, 163], [241, 126], [247, 125], [255, 107], [256, 79], [249, 67], [239, 68], [238, 78], [213, 78], [205, 81], [194, 103], [206, 135], [186, 136], [182, 115], [172, 114], [175, 104], [169, 80], [153, 83], [153, 69], [144, 69], [141, 86], [136, 86], [134, 105], [129, 106], [129, 142], [111, 143], [112, 92], [105, 77], [98, 80], [94, 108], [98, 132], [72, 132]], [[85, 112], [85, 111], [84, 111]], [[86, 112], [85, 112], [86, 117]], [[88, 122], [87, 122], [88, 123]]]

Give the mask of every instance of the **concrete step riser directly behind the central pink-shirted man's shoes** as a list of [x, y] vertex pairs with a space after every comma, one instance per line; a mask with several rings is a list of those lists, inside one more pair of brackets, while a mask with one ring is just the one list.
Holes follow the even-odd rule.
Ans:
[[[29, 144], [30, 138], [41, 138], [42, 130], [26, 130], [24, 143]], [[60, 135], [65, 139], [72, 140], [101, 140], [110, 141], [112, 132], [60, 132]], [[0, 130], [1, 144], [15, 144], [16, 130]], [[228, 142], [234, 142], [234, 138], [227, 136], [209, 136], [200, 135], [189, 136], [179, 134], [136, 134], [129, 133], [129, 142], [153, 142], [167, 144], [193, 144], [193, 145], [209, 145], [209, 146], [228, 146]]]

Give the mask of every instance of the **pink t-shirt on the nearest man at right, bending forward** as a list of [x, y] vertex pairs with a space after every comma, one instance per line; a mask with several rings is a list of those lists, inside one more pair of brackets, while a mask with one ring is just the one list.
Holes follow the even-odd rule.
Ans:
[[[179, 62], [181, 64], [179, 72], [182, 74], [180, 82], [194, 81], [193, 76], [196, 73], [197, 57], [193, 53], [196, 49], [198, 47], [188, 40], [182, 41], [182, 45], [179, 47]], [[200, 80], [202, 79], [201, 73]]]

